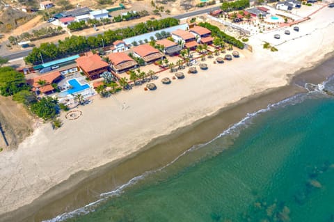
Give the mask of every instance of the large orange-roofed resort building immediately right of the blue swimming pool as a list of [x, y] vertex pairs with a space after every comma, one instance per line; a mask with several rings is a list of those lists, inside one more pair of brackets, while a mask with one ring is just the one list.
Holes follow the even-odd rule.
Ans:
[[78, 67], [89, 79], [98, 79], [100, 74], [108, 71], [109, 64], [102, 61], [102, 58], [97, 54], [88, 52], [84, 56], [80, 56], [75, 60]]

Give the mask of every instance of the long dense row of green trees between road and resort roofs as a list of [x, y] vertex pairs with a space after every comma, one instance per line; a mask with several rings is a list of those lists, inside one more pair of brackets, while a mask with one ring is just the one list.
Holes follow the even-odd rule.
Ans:
[[31, 53], [24, 58], [26, 63], [33, 65], [42, 63], [41, 56], [44, 62], [52, 61], [56, 58], [64, 58], [73, 54], [82, 53], [89, 49], [97, 49], [98, 47], [111, 45], [116, 40], [130, 38], [136, 35], [148, 33], [152, 30], [165, 29], [170, 26], [176, 26], [179, 20], [175, 18], [166, 18], [161, 20], [148, 20], [145, 23], [136, 24], [133, 27], [124, 29], [108, 30], [103, 35], [84, 36], [72, 35], [59, 40], [58, 45], [54, 43], [45, 42], [40, 47], [34, 47]]

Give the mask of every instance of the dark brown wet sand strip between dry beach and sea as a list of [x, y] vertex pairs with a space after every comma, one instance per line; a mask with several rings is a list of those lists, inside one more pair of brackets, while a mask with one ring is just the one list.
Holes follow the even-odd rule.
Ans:
[[[305, 81], [312, 82], [313, 84], [320, 84], [334, 73], [321, 72], [321, 76], [319, 76], [314, 74], [314, 72], [322, 70], [323, 66], [328, 65], [328, 63], [333, 63], [333, 61], [334, 52], [327, 54], [322, 61], [317, 65], [312, 66], [312, 68], [301, 68], [301, 70], [297, 71], [296, 74], [290, 78], [289, 84], [286, 86], [268, 89], [262, 93], [245, 97], [239, 100], [239, 102], [219, 109], [216, 113], [210, 116], [196, 120], [196, 122], [193, 122], [191, 125], [175, 129], [168, 135], [153, 138], [147, 145], [143, 146], [143, 148], [127, 157], [111, 161], [109, 164], [93, 168], [90, 171], [80, 171], [75, 173], [74, 175], [71, 175], [69, 179], [52, 187], [46, 193], [43, 193], [42, 196], [34, 200], [30, 205], [3, 214], [1, 215], [1, 218], [5, 219], [5, 221], [40, 221], [51, 219], [54, 218], [54, 216], [61, 214], [61, 212], [57, 213], [58, 210], [61, 210], [65, 205], [68, 206], [68, 203], [75, 203], [77, 197], [81, 196], [82, 198], [82, 195], [89, 189], [98, 193], [111, 191], [119, 187], [121, 184], [125, 184], [133, 177], [141, 175], [147, 171], [152, 171], [155, 168], [166, 166], [166, 164], [173, 161], [175, 157], [191, 148], [192, 145], [212, 140], [235, 122], [244, 118], [247, 113], [253, 113], [260, 109], [264, 109], [269, 104], [280, 102], [296, 94], [306, 93], [305, 88], [296, 86], [296, 83]], [[228, 120], [222, 118], [226, 118], [226, 116], [228, 116]], [[181, 145], [180, 141], [182, 141]], [[169, 153], [168, 157], [165, 157], [164, 161], [161, 161], [160, 154], [166, 154], [166, 151], [171, 154]], [[156, 161], [147, 161], [148, 157], [150, 159], [159, 157], [159, 163]], [[143, 166], [143, 163], [145, 166]], [[111, 178], [112, 180], [118, 181], [118, 184], [114, 185], [114, 187], [109, 187], [111, 185]], [[87, 196], [89, 196], [89, 194]], [[77, 205], [77, 208], [97, 200], [96, 198], [93, 198], [93, 193], [90, 193], [90, 197], [84, 199], [84, 203]], [[74, 207], [73, 209], [67, 210], [67, 212], [77, 208]], [[37, 212], [35, 212], [34, 209], [38, 209]], [[50, 212], [54, 212], [53, 217], [47, 217]], [[26, 216], [29, 213], [33, 215]], [[15, 216], [13, 216], [13, 214], [15, 214]], [[25, 216], [22, 217], [20, 215]]]

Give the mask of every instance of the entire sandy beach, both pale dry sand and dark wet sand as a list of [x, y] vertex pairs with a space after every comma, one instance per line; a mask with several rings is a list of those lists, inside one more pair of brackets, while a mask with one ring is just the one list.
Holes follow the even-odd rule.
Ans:
[[[331, 10], [325, 11], [325, 15], [331, 16]], [[305, 31], [307, 25], [316, 23], [310, 26], [312, 30], [319, 23], [310, 21], [301, 25]], [[187, 75], [186, 82], [159, 85], [156, 92], [137, 88], [109, 100], [97, 99], [89, 107], [80, 107], [83, 117], [68, 122], [60, 130], [52, 131], [45, 125], [36, 129], [16, 152], [3, 154], [0, 212], [7, 213], [1, 215], [0, 221], [31, 221], [27, 218], [29, 214], [33, 214], [35, 221], [51, 219], [59, 212], [77, 209], [96, 200], [97, 193], [124, 184], [131, 175], [166, 165], [182, 153], [180, 148], [187, 150], [193, 144], [209, 141], [246, 113], [302, 92], [303, 88], [294, 86], [294, 82], [302, 85], [308, 78], [316, 83], [324, 80], [323, 73], [319, 76], [312, 74], [312, 70], [303, 71], [319, 68], [321, 65], [317, 64], [327, 63], [326, 59], [333, 60], [328, 58], [334, 51], [333, 39], [327, 37], [331, 32], [333, 29], [326, 26], [315, 29], [312, 35], [303, 36], [303, 41], [280, 45], [279, 54], [264, 51], [257, 44], [258, 52], [245, 52], [246, 58], [218, 68], [210, 66], [209, 71], [198, 75]], [[321, 36], [318, 45], [299, 48]], [[292, 47], [300, 51], [292, 51]], [[253, 64], [257, 64], [256, 69], [252, 69]], [[207, 88], [208, 84], [211, 87]], [[120, 101], [130, 104], [130, 109], [120, 111]], [[137, 118], [138, 114], [141, 118]], [[98, 177], [107, 177], [106, 172], [109, 180], [99, 181]], [[15, 208], [18, 209], [10, 211]]]

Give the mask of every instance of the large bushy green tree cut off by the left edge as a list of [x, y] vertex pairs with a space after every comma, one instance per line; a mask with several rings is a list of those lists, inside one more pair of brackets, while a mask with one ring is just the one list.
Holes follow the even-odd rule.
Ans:
[[22, 90], [29, 90], [24, 74], [11, 67], [0, 68], [0, 95], [14, 95]]

